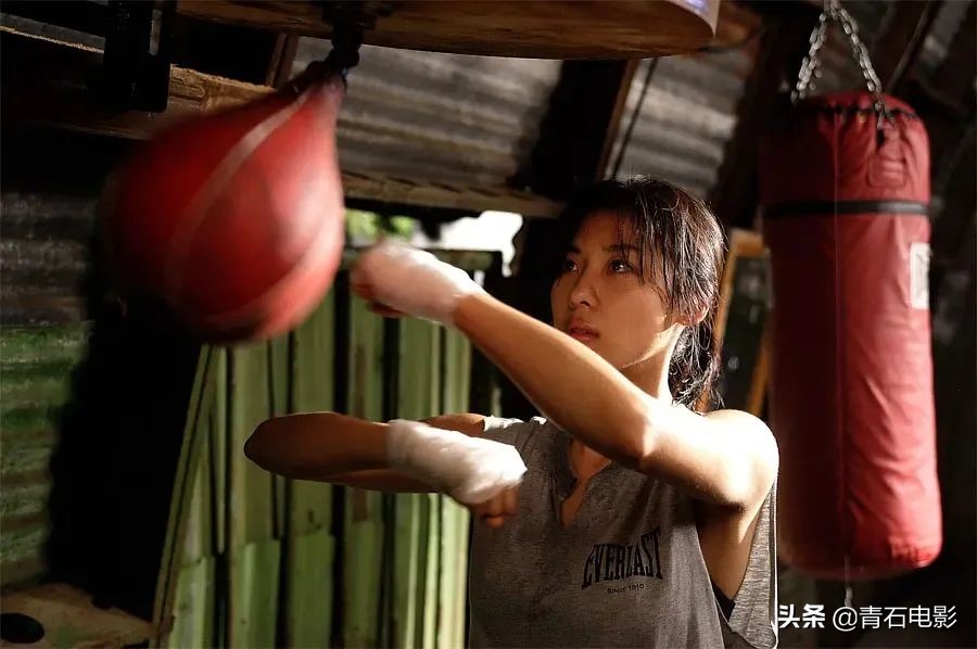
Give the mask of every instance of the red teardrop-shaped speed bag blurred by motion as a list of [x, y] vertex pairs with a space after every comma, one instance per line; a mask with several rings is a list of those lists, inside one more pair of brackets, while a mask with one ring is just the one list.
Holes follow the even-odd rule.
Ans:
[[105, 219], [119, 280], [162, 297], [202, 340], [288, 331], [343, 250], [330, 76], [163, 132], [122, 170]]

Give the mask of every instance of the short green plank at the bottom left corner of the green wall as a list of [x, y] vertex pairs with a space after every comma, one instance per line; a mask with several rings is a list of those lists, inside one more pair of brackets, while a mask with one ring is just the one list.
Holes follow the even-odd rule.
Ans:
[[216, 560], [204, 557], [186, 564], [177, 583], [173, 629], [165, 646], [173, 649], [214, 647]]

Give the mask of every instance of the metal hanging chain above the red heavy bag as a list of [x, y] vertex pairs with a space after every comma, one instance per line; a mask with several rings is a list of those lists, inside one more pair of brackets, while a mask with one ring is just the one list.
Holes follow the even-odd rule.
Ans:
[[[868, 58], [868, 49], [859, 37], [859, 25], [855, 23], [854, 18], [851, 17], [851, 14], [841, 7], [840, 0], [825, 0], [824, 2], [824, 10], [822, 10], [821, 15], [817, 18], [817, 27], [811, 33], [810, 47], [801, 63], [801, 68], [797, 77], [797, 85], [790, 93], [790, 101], [797, 103], [815, 89], [816, 79], [822, 75], [821, 49], [827, 42], [828, 29], [834, 23], [839, 23], [841, 25], [841, 29], [848, 38], [851, 54], [862, 71], [862, 77], [865, 79], [865, 86], [868, 88], [868, 92], [871, 92], [875, 99], [875, 110], [886, 118], [890, 118], [889, 112], [886, 109], [886, 102], [881, 96], [881, 81], [879, 81], [878, 75], [875, 74], [875, 68], [872, 66], [872, 60]], [[881, 123], [879, 123], [879, 127], [881, 127]]]

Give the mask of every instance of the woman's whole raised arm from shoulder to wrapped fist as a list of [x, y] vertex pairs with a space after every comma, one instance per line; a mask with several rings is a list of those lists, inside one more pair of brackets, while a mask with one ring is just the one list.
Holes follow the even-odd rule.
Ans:
[[491, 297], [429, 253], [384, 241], [360, 257], [351, 281], [366, 300], [457, 327], [543, 415], [624, 466], [743, 511], [773, 483], [777, 449], [759, 419], [702, 417], [645, 394], [585, 345]]

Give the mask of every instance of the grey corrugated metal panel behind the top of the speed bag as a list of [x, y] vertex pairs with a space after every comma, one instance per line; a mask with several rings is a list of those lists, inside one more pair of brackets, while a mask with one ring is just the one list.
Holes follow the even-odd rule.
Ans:
[[[294, 72], [329, 50], [328, 41], [300, 39]], [[505, 186], [529, 157], [559, 72], [559, 61], [364, 46], [340, 113], [340, 164]]]

